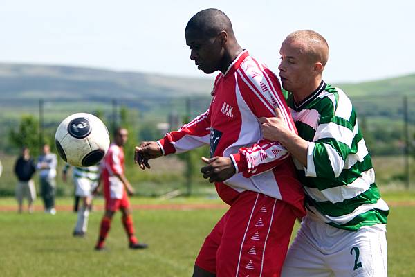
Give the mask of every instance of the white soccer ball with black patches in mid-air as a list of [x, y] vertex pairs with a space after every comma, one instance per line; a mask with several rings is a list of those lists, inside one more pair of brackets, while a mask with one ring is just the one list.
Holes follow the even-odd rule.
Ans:
[[55, 145], [59, 156], [72, 166], [93, 166], [107, 153], [109, 134], [100, 118], [72, 114], [57, 127]]

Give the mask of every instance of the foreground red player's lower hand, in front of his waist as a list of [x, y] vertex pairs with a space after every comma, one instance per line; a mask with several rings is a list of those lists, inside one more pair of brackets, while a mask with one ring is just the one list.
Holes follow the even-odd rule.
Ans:
[[208, 179], [209, 182], [219, 182], [225, 181], [232, 177], [236, 170], [230, 158], [226, 157], [213, 157], [207, 159], [202, 157], [202, 161], [207, 164], [207, 166], [203, 166], [201, 168], [201, 172], [203, 173], [203, 178]]

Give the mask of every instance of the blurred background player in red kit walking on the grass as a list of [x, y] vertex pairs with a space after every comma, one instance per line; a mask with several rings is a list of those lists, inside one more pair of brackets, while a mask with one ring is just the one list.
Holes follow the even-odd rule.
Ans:
[[122, 224], [124, 225], [124, 229], [129, 239], [129, 248], [147, 248], [147, 244], [138, 243], [138, 240], [134, 235], [133, 218], [129, 208], [127, 193], [133, 195], [134, 190], [124, 175], [124, 150], [122, 150], [122, 146], [127, 142], [127, 139], [127, 129], [118, 127], [114, 132], [115, 143], [109, 145], [109, 150], [102, 163], [105, 214], [104, 217], [102, 217], [100, 237], [95, 246], [96, 250], [104, 249], [104, 241], [105, 238], [107, 238], [111, 220], [118, 209], [122, 212]]

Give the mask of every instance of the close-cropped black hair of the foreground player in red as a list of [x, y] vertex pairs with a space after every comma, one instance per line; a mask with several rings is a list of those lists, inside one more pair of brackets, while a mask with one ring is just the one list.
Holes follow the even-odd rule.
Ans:
[[215, 37], [222, 31], [228, 33], [229, 37], [234, 37], [232, 29], [232, 23], [225, 13], [221, 10], [210, 8], [207, 10], [201, 10], [196, 13], [189, 22], [185, 29], [185, 33], [189, 34], [197, 33], [200, 37], [210, 38]]

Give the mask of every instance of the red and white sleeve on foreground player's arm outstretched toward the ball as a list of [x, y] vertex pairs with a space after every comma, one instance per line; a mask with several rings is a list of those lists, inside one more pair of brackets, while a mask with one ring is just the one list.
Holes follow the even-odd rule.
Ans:
[[210, 143], [210, 113], [205, 111], [177, 131], [157, 141], [163, 155], [183, 153]]

